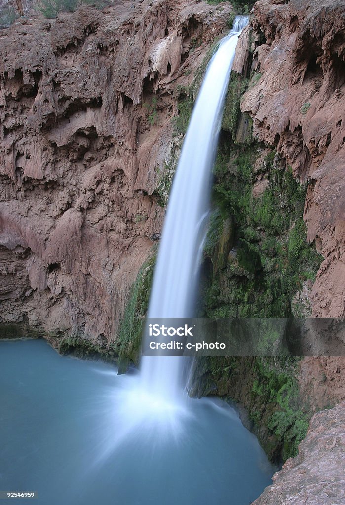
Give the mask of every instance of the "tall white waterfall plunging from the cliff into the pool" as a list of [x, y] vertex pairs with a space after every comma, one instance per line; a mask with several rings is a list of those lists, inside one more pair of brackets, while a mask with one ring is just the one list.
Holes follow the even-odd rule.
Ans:
[[[211, 172], [236, 44], [247, 23], [248, 17], [237, 16], [233, 29], [220, 42], [193, 108], [169, 197], [149, 318], [195, 316], [193, 305], [210, 207]], [[143, 387], [156, 397], [178, 401], [183, 391], [184, 362], [181, 357], [143, 357]]]

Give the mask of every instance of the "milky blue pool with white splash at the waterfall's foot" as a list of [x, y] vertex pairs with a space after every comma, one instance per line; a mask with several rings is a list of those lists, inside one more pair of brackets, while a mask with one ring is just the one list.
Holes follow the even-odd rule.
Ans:
[[0, 341], [0, 490], [36, 491], [36, 505], [249, 505], [271, 483], [233, 409], [175, 411], [137, 381], [43, 340]]

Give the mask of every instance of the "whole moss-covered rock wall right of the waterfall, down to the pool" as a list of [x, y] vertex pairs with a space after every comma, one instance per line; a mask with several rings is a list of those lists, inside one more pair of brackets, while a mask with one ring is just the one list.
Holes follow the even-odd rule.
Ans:
[[[259, 78], [252, 76], [252, 85]], [[322, 261], [307, 242], [307, 185], [293, 178], [274, 147], [253, 139], [250, 120], [239, 111], [247, 86], [247, 79], [232, 77], [222, 123], [204, 251], [205, 317], [283, 318], [291, 316], [292, 307], [293, 314], [305, 313], [305, 296], [298, 293], [307, 284], [310, 289]], [[224, 247], [224, 229], [230, 222], [233, 235], [225, 261], [230, 240]], [[191, 394], [238, 401], [249, 412], [249, 428], [278, 462], [296, 455], [311, 417], [297, 374], [298, 358], [202, 358], [195, 361]]]

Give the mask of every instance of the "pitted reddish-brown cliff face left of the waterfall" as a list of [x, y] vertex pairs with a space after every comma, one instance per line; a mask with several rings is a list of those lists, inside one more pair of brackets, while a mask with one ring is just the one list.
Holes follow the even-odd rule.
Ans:
[[230, 11], [117, 1], [0, 31], [0, 321], [116, 339], [162, 227], [178, 86]]

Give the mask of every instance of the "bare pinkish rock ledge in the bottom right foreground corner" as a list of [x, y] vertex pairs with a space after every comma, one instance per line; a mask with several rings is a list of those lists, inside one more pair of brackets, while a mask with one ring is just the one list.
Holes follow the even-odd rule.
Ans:
[[296, 458], [286, 461], [253, 505], [345, 503], [345, 403], [315, 414]]

